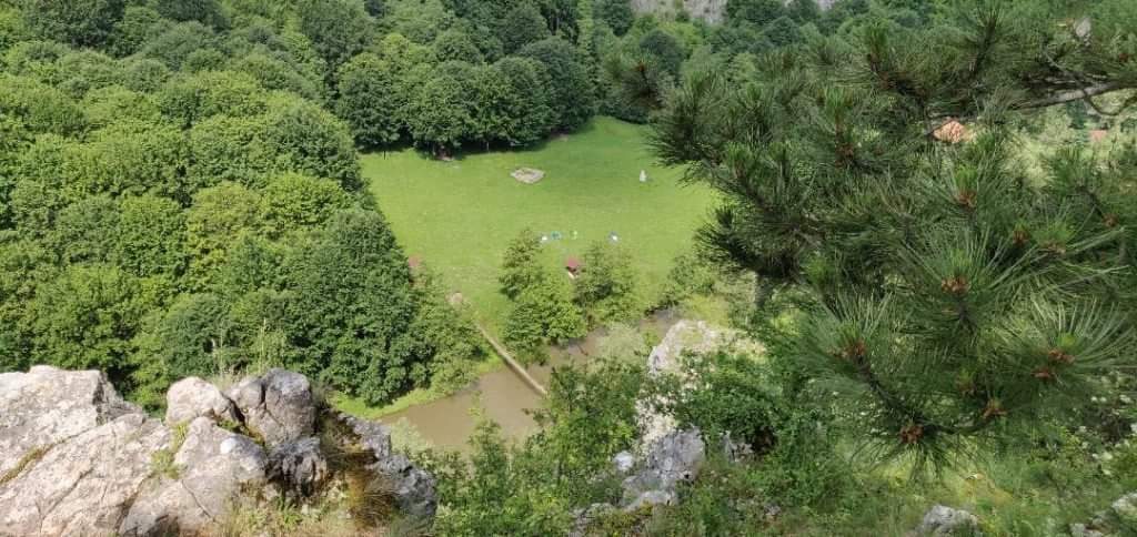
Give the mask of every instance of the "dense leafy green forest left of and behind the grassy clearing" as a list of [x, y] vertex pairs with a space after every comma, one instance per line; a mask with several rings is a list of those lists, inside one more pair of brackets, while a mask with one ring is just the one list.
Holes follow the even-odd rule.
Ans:
[[[0, 360], [101, 368], [153, 403], [252, 363], [375, 403], [463, 385], [472, 326], [412, 277], [357, 148], [644, 121], [682, 66], [750, 62], [800, 39], [769, 39], [774, 22], [854, 12], [755, 5], [709, 27], [611, 0], [0, 7]], [[637, 74], [649, 86], [630, 95]]]

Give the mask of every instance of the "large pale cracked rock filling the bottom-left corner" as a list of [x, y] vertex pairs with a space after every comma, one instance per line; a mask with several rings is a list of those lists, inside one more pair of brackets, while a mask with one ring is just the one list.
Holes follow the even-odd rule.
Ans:
[[0, 375], [0, 535], [114, 535], [168, 442], [97, 371]]

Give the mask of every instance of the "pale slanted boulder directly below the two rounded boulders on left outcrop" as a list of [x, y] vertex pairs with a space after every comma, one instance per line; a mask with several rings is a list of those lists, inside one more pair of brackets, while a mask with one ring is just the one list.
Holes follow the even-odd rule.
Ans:
[[125, 536], [193, 534], [219, 522], [244, 490], [264, 490], [268, 458], [250, 438], [208, 418], [194, 419], [176, 448], [171, 475], [134, 501], [118, 532]]

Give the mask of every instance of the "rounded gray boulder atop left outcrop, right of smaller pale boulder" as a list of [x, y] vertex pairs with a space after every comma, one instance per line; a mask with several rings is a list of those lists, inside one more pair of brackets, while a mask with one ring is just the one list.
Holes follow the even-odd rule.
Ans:
[[249, 377], [229, 391], [244, 425], [268, 447], [312, 436], [316, 429], [316, 401], [304, 375], [272, 369]]

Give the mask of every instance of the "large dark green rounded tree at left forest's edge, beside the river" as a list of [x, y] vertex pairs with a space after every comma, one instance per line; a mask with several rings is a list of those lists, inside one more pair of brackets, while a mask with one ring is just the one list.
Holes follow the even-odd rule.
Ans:
[[425, 381], [410, 271], [383, 217], [335, 213], [284, 261], [290, 367], [381, 404]]

